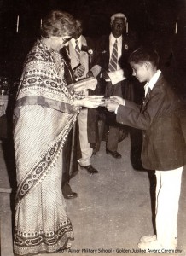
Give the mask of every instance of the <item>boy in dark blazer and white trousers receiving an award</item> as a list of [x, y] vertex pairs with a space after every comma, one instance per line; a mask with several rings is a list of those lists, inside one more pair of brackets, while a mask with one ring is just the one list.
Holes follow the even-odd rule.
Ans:
[[142, 107], [112, 96], [108, 111], [117, 122], [143, 131], [142, 166], [155, 170], [156, 235], [143, 236], [140, 249], [176, 249], [177, 212], [184, 166], [185, 142], [177, 117], [178, 100], [157, 69], [159, 56], [153, 49], [139, 48], [129, 58], [133, 75], [144, 86]]

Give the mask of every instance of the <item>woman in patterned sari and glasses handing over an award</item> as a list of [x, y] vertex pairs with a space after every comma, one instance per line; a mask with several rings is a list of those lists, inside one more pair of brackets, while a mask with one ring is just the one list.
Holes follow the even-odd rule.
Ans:
[[72, 38], [73, 16], [52, 11], [26, 57], [15, 104], [15, 255], [70, 247], [73, 227], [61, 192], [62, 150], [81, 106], [101, 99], [70, 91], [59, 50]]

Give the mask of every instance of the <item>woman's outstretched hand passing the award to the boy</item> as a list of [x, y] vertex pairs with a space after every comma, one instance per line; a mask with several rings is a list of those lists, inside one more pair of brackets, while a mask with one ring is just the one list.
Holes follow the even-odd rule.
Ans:
[[74, 103], [78, 107], [97, 108], [105, 104], [105, 102], [102, 101], [102, 98], [103, 96], [85, 96], [81, 100], [75, 100]]

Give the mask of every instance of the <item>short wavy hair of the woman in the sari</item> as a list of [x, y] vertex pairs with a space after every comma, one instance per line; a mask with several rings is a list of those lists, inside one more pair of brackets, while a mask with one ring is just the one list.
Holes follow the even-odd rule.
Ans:
[[51, 36], [61, 37], [64, 35], [73, 36], [75, 24], [73, 15], [59, 10], [53, 10], [43, 21], [41, 36], [44, 38]]

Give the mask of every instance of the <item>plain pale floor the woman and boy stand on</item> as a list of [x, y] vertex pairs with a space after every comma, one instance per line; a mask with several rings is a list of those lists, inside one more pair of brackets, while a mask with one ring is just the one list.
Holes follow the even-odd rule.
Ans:
[[[186, 115], [184, 113], [181, 115], [186, 138]], [[14, 201], [11, 198], [15, 190], [15, 167], [11, 147], [11, 143], [0, 144], [2, 256], [14, 255], [11, 211]], [[8, 155], [4, 154], [4, 150], [7, 149], [9, 149]], [[134, 253], [133, 249], [137, 249], [141, 236], [154, 233], [148, 173], [134, 170], [132, 167], [130, 137], [119, 143], [119, 153], [122, 154], [122, 158], [113, 159], [112, 156], [106, 154], [105, 142], [102, 142], [100, 151], [92, 157], [92, 164], [99, 170], [99, 173], [91, 176], [88, 172], [79, 171], [78, 175], [73, 177], [71, 186], [73, 191], [78, 193], [78, 197], [67, 201], [67, 212], [73, 223], [75, 240], [72, 242], [72, 250], [74, 251], [42, 254], [43, 256], [144, 255]], [[5, 163], [7, 160], [9, 160], [8, 166]], [[186, 166], [183, 170], [178, 214], [177, 249], [182, 252], [169, 253], [168, 255], [171, 256], [186, 255], [185, 183]], [[120, 250], [119, 253], [117, 249]], [[91, 253], [90, 250], [97, 251]], [[158, 255], [165, 255], [165, 253], [158, 253]]]

